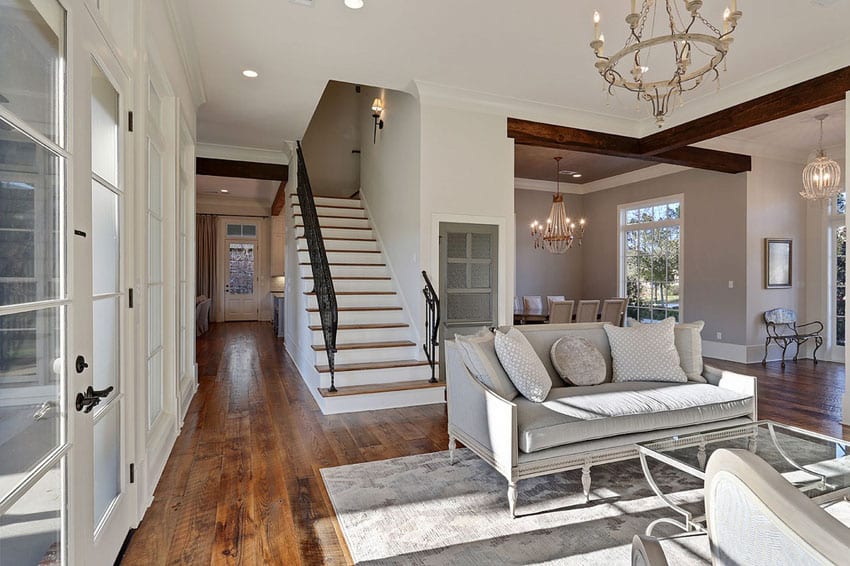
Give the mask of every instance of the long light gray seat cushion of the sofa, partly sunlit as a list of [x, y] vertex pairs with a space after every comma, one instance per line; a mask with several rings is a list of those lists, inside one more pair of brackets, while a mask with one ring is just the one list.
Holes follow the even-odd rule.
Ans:
[[752, 415], [750, 395], [708, 383], [622, 382], [556, 387], [543, 403], [517, 397], [523, 452]]

